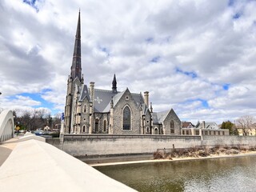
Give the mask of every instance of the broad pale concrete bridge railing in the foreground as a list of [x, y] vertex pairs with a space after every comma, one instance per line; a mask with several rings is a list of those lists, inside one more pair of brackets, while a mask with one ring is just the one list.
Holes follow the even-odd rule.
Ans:
[[135, 191], [46, 142], [18, 142], [0, 167], [1, 192]]

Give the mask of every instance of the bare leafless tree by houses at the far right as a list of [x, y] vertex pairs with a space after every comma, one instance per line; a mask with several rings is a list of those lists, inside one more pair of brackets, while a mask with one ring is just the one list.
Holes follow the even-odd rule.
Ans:
[[245, 115], [236, 120], [238, 129], [242, 129], [242, 135], [249, 135], [252, 129], [255, 129], [255, 118], [250, 115]]

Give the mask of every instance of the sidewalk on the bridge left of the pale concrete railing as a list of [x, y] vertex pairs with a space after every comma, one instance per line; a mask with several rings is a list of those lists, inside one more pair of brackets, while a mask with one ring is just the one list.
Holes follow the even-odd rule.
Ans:
[[0, 166], [6, 161], [6, 158], [9, 157], [10, 153], [14, 150], [14, 147], [17, 145], [17, 141], [23, 135], [14, 135], [14, 138], [10, 138], [6, 142], [0, 144]]

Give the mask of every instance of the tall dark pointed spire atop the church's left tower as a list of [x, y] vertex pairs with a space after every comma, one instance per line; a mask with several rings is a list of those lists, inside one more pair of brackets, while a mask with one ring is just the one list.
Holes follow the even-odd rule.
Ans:
[[80, 10], [78, 14], [78, 26], [74, 41], [74, 54], [70, 77], [73, 78], [73, 80], [78, 77], [80, 82], [82, 80]]

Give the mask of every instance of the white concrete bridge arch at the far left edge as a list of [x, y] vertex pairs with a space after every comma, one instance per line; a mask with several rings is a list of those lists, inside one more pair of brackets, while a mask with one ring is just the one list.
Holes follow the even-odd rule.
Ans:
[[3, 110], [0, 114], [0, 142], [14, 137], [14, 114], [11, 110]]

